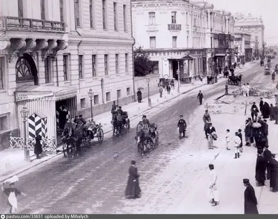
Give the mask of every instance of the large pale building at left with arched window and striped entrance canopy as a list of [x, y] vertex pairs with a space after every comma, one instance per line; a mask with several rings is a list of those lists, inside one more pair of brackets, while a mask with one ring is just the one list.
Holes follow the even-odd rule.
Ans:
[[[31, 6], [28, 5], [31, 3]], [[134, 40], [127, 0], [0, 1], [0, 140], [57, 137], [65, 120], [129, 101]], [[0, 141], [1, 144], [1, 141]], [[2, 143], [3, 145], [3, 143]]]

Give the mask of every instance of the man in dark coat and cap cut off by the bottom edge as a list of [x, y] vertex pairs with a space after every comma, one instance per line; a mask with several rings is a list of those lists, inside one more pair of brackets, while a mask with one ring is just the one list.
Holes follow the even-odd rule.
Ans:
[[259, 214], [256, 207], [258, 204], [256, 194], [253, 186], [250, 184], [249, 179], [243, 179], [243, 184], [246, 187], [244, 191], [244, 214]]

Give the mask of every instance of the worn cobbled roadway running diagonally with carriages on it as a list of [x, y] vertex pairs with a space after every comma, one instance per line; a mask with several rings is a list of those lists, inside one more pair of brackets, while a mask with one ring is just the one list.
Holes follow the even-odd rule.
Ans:
[[[244, 73], [243, 82], [251, 82], [259, 75], [263, 75], [263, 69], [254, 64]], [[224, 83], [202, 87], [205, 101], [223, 94]], [[138, 154], [134, 140], [138, 118], [132, 121], [130, 133], [83, 150], [78, 159], [56, 157], [19, 175], [17, 187], [27, 193], [19, 198], [19, 213], [166, 213], [172, 203], [179, 207], [176, 195], [184, 199], [184, 189], [191, 194], [197, 191], [196, 179], [219, 155], [217, 150], [207, 150], [203, 138], [204, 109], [204, 105], [199, 106], [195, 90], [146, 112], [149, 120], [158, 124], [160, 143], [145, 157]], [[178, 139], [180, 114], [188, 122], [188, 139]], [[140, 200], [124, 199], [131, 159], [138, 162]], [[5, 198], [1, 194], [1, 212], [6, 211]]]

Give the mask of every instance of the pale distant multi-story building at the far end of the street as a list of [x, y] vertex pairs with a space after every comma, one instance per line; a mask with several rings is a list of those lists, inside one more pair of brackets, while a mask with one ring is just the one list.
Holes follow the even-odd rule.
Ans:
[[261, 55], [264, 55], [265, 26], [263, 25], [263, 19], [261, 17], [253, 17], [251, 14], [245, 16], [240, 13], [237, 13], [235, 17], [235, 28], [249, 33], [251, 35], [251, 38], [255, 40], [256, 44], [258, 44], [258, 49], [255, 51], [255, 56], [259, 57]]

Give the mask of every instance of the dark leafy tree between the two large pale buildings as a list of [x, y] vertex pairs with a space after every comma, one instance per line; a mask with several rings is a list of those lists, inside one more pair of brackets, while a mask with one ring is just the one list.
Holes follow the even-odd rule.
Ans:
[[135, 76], [146, 76], [154, 71], [154, 62], [149, 59], [149, 55], [144, 53], [142, 46], [134, 50], [134, 73]]

